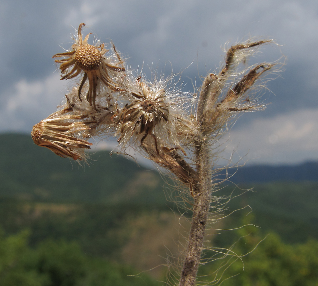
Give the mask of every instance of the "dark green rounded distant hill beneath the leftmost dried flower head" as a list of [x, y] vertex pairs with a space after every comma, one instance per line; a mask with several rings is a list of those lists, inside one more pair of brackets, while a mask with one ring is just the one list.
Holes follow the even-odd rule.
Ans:
[[89, 166], [61, 158], [31, 136], [0, 134], [0, 196], [43, 202], [162, 203], [156, 171], [107, 151], [91, 154]]

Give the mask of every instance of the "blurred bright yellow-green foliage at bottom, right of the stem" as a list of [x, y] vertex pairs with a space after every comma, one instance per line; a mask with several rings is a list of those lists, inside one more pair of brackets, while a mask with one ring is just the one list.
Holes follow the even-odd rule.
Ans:
[[[225, 271], [222, 285], [318, 285], [317, 240], [310, 239], [303, 244], [285, 244], [277, 234], [272, 233], [261, 241], [259, 231], [252, 226], [240, 229], [238, 235], [240, 239], [232, 248], [235, 256], [229, 261], [232, 265]], [[257, 244], [256, 249], [245, 256]], [[201, 275], [208, 275], [213, 279], [212, 273], [216, 270], [214, 267], [215, 265], [203, 266], [200, 269]]]

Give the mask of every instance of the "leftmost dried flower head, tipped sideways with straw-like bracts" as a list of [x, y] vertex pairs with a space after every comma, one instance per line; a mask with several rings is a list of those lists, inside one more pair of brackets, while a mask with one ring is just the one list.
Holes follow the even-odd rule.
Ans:
[[[87, 84], [83, 89], [87, 90]], [[74, 87], [60, 110], [33, 126], [31, 136], [34, 143], [56, 155], [86, 161], [84, 150], [93, 145], [87, 139], [112, 126], [111, 117], [116, 108], [112, 105], [112, 97], [106, 93], [102, 94], [106, 107], [93, 107], [87, 101], [80, 101], [77, 94], [78, 88]]]

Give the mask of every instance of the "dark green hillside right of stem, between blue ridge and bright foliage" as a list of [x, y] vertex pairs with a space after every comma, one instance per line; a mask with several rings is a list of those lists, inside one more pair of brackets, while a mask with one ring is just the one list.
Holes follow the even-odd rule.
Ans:
[[[261, 228], [263, 234], [276, 232], [287, 243], [305, 243], [308, 238], [318, 239], [318, 183], [313, 182], [276, 182], [266, 184], [239, 185], [250, 189], [234, 198], [228, 205], [229, 210], [237, 210], [226, 221], [226, 228], [240, 225], [242, 213], [252, 209], [254, 224]], [[233, 185], [222, 189], [222, 194], [231, 194]], [[234, 191], [237, 195], [241, 190]], [[221, 240], [223, 240], [222, 237]], [[226, 238], [225, 238], [226, 239]], [[217, 238], [218, 240], [218, 238]], [[224, 246], [224, 245], [223, 245]]]

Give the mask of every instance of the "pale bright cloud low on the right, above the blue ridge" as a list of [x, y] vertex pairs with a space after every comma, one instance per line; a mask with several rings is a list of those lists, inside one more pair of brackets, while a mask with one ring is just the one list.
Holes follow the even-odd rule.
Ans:
[[248, 163], [299, 163], [318, 159], [318, 109], [258, 119], [228, 137], [225, 154], [236, 150]]

